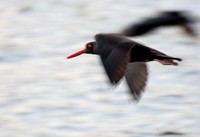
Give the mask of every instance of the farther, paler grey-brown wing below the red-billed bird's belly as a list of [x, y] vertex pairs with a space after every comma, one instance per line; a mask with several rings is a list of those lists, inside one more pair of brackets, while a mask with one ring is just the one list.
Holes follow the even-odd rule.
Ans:
[[141, 98], [148, 78], [147, 65], [144, 62], [129, 63], [125, 74], [133, 98], [137, 101]]

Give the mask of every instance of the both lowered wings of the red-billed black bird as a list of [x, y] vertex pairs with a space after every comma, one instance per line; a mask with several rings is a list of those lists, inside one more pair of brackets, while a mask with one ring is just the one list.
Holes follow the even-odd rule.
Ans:
[[136, 43], [115, 34], [97, 34], [95, 39], [110, 82], [115, 85], [125, 75], [131, 94], [138, 101], [146, 86], [148, 72], [145, 63], [130, 63], [131, 50]]

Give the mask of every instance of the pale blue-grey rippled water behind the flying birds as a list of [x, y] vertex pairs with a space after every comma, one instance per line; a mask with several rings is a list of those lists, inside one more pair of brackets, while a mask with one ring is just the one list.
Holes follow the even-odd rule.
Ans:
[[198, 0], [0, 1], [0, 137], [198, 137], [198, 38], [178, 27], [133, 38], [183, 58], [177, 67], [149, 63], [138, 104], [124, 82], [110, 87], [98, 56], [65, 57], [157, 11], [199, 20], [199, 9]]

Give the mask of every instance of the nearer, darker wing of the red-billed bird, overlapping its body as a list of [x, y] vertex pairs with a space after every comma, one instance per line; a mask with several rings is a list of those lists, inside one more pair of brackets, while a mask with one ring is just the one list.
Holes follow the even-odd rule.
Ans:
[[127, 71], [134, 43], [124, 41], [124, 37], [114, 34], [100, 34], [96, 35], [95, 38], [98, 45], [98, 54], [110, 82], [117, 84]]

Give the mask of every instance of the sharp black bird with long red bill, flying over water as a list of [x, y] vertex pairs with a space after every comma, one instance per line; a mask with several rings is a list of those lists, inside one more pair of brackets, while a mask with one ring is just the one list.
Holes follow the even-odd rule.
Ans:
[[158, 61], [163, 65], [178, 65], [180, 58], [168, 56], [158, 50], [144, 46], [120, 34], [97, 34], [95, 41], [67, 59], [83, 53], [97, 54], [111, 84], [116, 85], [125, 76], [133, 98], [138, 101], [146, 86], [148, 70], [146, 62]]

